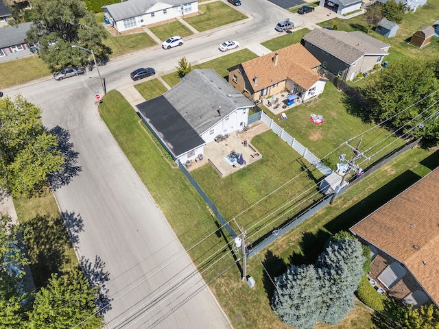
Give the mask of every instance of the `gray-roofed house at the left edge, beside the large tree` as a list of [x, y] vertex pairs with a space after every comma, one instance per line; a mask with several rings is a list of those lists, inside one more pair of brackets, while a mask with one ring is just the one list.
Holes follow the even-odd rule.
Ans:
[[34, 49], [26, 42], [26, 32], [32, 23], [23, 23], [18, 26], [1, 27], [0, 33], [0, 62], [14, 60], [23, 56], [32, 55]]

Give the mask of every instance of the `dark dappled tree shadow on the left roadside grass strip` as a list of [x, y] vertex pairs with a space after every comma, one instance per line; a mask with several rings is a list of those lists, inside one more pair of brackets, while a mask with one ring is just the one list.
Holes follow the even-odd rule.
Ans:
[[36, 215], [23, 226], [30, 232], [26, 245], [35, 285], [45, 287], [52, 273], [69, 271], [71, 258], [66, 251], [71, 243], [64, 221], [60, 216]]

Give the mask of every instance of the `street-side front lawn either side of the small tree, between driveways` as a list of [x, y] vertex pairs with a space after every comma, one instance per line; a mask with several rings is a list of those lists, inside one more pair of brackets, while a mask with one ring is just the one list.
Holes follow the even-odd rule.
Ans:
[[[215, 60], [209, 60], [209, 62], [204, 62], [202, 64], [192, 66], [193, 69], [213, 69], [216, 73], [221, 75], [222, 77], [228, 77], [227, 69], [229, 67], [235, 66], [239, 63], [246, 62], [247, 60], [252, 60], [253, 58], [257, 58], [258, 56], [248, 49], [242, 49], [240, 51], [236, 51], [235, 53], [229, 53], [226, 56], [221, 56], [219, 58], [215, 58]], [[167, 75], [163, 75], [163, 80], [169, 86], [173, 87], [178, 82], [180, 82], [180, 77], [178, 77], [177, 71], [173, 73], [169, 73]]]

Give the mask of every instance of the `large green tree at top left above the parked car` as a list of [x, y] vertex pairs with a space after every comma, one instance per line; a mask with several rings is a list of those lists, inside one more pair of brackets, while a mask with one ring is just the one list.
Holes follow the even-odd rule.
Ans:
[[31, 13], [33, 24], [27, 39], [37, 45], [49, 69], [88, 64], [90, 53], [72, 49], [71, 45], [93, 50], [98, 62], [108, 60], [111, 49], [102, 43], [106, 38], [104, 27], [86, 10], [84, 1], [32, 0]]

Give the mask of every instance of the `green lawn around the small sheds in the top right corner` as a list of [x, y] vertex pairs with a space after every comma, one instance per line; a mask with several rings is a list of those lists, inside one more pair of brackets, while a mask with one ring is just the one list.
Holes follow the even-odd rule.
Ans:
[[[409, 45], [407, 42], [418, 29], [428, 25], [433, 25], [434, 22], [438, 21], [438, 12], [439, 1], [428, 1], [425, 5], [416, 9], [416, 12], [407, 12], [404, 14], [403, 21], [399, 24], [396, 36], [385, 38], [385, 36], [381, 36], [381, 34], [378, 34], [375, 30], [371, 30], [369, 35], [385, 43], [390, 43], [390, 55], [385, 57], [385, 60], [390, 62], [392, 60], [403, 59], [407, 56], [410, 56], [411, 58], [426, 56], [436, 57], [439, 53], [439, 38], [433, 37], [431, 43], [423, 49]], [[366, 22], [364, 22], [364, 15], [355, 16], [352, 19], [331, 19], [331, 21], [319, 23], [318, 25], [322, 27], [333, 27], [333, 25], [337, 25], [339, 30], [346, 32], [356, 30], [364, 33], [368, 32], [368, 26]]]

